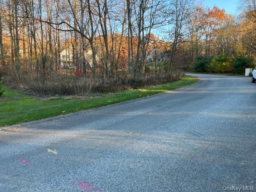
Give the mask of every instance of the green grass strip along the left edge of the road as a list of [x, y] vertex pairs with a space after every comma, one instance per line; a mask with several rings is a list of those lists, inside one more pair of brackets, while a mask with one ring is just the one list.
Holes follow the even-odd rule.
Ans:
[[185, 76], [172, 83], [127, 89], [115, 93], [102, 93], [96, 97], [80, 99], [70, 99], [72, 97], [68, 96], [40, 99], [3, 86], [4, 94], [0, 98], [0, 127], [162, 93], [196, 83], [198, 80], [198, 77]]

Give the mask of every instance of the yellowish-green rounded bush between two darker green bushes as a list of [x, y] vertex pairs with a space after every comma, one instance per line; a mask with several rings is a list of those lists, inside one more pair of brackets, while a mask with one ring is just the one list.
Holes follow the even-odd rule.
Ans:
[[220, 54], [212, 57], [209, 65], [209, 71], [212, 73], [231, 73], [232, 60], [230, 55]]

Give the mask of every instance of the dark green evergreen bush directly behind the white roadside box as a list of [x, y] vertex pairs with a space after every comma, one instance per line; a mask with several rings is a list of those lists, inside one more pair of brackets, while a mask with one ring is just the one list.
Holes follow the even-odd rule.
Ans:
[[237, 55], [233, 59], [233, 73], [244, 74], [245, 68], [253, 68], [253, 59], [244, 55]]

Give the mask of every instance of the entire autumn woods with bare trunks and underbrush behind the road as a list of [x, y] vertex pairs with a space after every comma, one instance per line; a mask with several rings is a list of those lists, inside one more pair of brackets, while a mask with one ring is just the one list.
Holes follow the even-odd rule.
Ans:
[[256, 55], [255, 1], [241, 10], [235, 17], [192, 0], [2, 0], [0, 71], [10, 86], [49, 95], [165, 83], [184, 70], [237, 73], [233, 58], [251, 67]]

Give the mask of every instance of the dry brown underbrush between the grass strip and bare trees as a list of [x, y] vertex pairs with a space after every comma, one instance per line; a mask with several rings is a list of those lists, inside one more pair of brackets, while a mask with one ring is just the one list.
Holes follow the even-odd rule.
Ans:
[[[31, 79], [30, 76], [22, 77], [23, 88], [27, 89], [28, 93], [35, 96], [50, 96], [50, 95], [89, 95], [92, 93], [102, 93], [109, 91], [121, 91], [129, 88], [139, 88], [147, 85], [157, 85], [176, 81], [184, 76], [184, 72], [175, 71], [170, 75], [157, 74], [146, 75], [146, 77], [133, 78], [127, 73], [119, 73], [110, 81], [100, 75], [87, 75], [86, 77], [76, 75], [58, 74], [58, 76], [49, 76], [45, 83], [42, 79]], [[6, 83], [9, 86], [17, 87], [14, 78], [6, 78]]]

